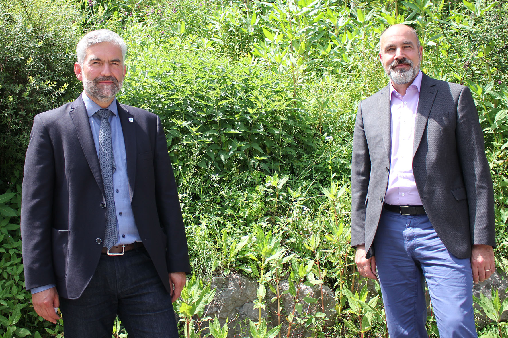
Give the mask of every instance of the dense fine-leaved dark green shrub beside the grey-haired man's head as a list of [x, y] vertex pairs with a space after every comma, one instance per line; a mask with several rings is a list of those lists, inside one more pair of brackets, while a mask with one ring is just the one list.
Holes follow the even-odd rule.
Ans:
[[0, 2], [0, 191], [22, 168], [34, 115], [80, 92], [73, 71], [80, 18], [65, 2]]

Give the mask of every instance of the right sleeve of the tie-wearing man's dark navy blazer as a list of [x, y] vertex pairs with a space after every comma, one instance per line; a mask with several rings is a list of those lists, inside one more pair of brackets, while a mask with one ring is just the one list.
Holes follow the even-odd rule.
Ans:
[[168, 272], [190, 274], [187, 239], [175, 176], [169, 159], [166, 135], [158, 116], [154, 156], [155, 200], [159, 220], [167, 235]]

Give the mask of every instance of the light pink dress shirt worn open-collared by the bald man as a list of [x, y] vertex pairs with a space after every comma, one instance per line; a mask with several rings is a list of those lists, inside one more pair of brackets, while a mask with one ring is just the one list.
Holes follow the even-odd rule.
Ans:
[[406, 94], [402, 96], [390, 81], [392, 148], [385, 203], [395, 206], [422, 205], [412, 172], [412, 149], [415, 141], [415, 121], [421, 84], [422, 72], [420, 71], [407, 88]]

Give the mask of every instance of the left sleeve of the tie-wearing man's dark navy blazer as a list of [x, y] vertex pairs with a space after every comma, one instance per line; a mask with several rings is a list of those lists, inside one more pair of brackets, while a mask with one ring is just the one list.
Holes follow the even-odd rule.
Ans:
[[21, 239], [27, 290], [55, 284], [52, 260], [53, 147], [41, 117], [34, 118], [21, 195]]

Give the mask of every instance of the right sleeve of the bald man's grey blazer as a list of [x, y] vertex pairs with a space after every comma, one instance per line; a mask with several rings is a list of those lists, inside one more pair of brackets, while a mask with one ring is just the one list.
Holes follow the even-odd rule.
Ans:
[[495, 247], [492, 177], [478, 111], [468, 87], [459, 94], [456, 141], [467, 195], [471, 244]]

